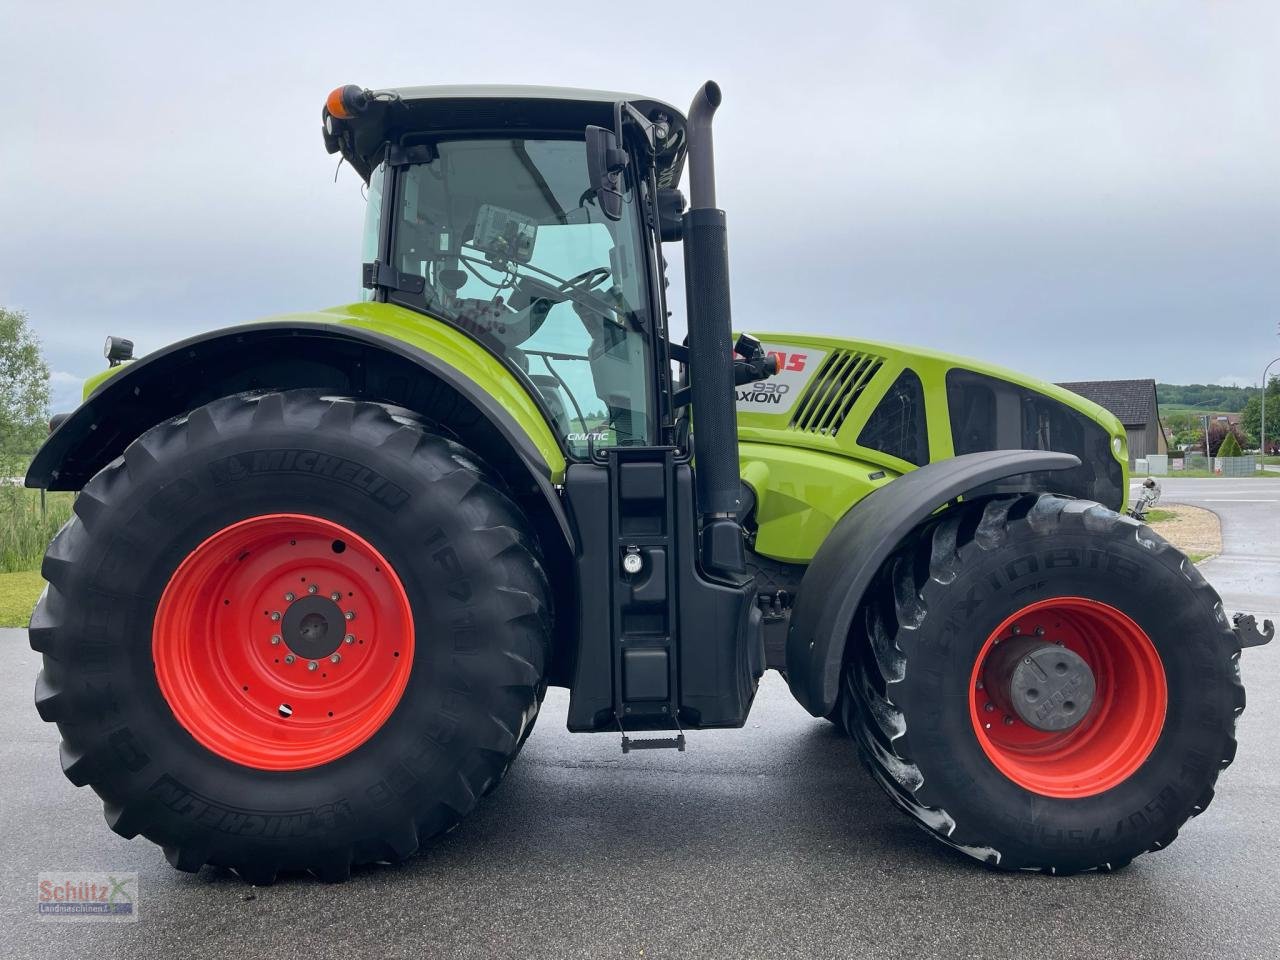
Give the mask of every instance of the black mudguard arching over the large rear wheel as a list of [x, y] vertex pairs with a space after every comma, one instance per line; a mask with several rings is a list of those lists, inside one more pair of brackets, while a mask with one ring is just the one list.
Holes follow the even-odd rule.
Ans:
[[[148, 353], [102, 381], [59, 424], [32, 461], [27, 486], [78, 490], [150, 428], [229, 393], [317, 387], [396, 403], [438, 420], [442, 413], [434, 404], [461, 399], [479, 413], [470, 416], [492, 443], [506, 444], [525, 466], [566, 543], [572, 544], [553, 486], [563, 475], [564, 461], [531, 397], [522, 392], [507, 396], [518, 385], [477, 381], [462, 365], [424, 348], [431, 344], [419, 346], [338, 319], [311, 314], [232, 326]], [[453, 355], [462, 356], [457, 349]], [[490, 365], [500, 366], [481, 357], [472, 374], [494, 380]], [[504, 370], [498, 372], [512, 380]]]

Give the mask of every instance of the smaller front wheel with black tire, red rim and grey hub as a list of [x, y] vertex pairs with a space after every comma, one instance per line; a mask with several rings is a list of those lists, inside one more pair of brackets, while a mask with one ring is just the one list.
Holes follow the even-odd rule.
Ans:
[[1001, 869], [1115, 869], [1212, 799], [1238, 655], [1217, 594], [1149, 527], [998, 498], [884, 564], [841, 699], [876, 780], [945, 844]]

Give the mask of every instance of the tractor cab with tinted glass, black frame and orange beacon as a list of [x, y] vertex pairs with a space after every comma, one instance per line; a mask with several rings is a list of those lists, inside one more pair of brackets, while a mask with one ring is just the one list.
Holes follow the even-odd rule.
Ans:
[[369, 184], [366, 298], [481, 342], [570, 456], [662, 440], [654, 211], [685, 160], [676, 109], [550, 87], [344, 87], [325, 143]]

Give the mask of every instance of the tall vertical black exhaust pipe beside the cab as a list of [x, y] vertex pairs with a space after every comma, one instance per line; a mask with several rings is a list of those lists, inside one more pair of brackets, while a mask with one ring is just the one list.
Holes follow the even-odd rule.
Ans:
[[703, 568], [708, 572], [741, 573], [746, 570], [746, 557], [736, 515], [740, 480], [728, 243], [724, 211], [716, 206], [716, 157], [712, 148], [712, 116], [719, 104], [719, 87], [708, 82], [689, 108], [685, 303]]

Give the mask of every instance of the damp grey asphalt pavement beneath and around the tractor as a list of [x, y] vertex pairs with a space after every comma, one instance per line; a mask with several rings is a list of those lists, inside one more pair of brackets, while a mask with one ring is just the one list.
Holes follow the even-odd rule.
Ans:
[[[1280, 481], [1165, 481], [1224, 520], [1229, 609], [1280, 611]], [[1225, 502], [1225, 503], [1224, 503]], [[1233, 607], [1233, 603], [1235, 604]], [[1107, 876], [986, 870], [881, 795], [768, 675], [742, 731], [628, 754], [564, 731], [553, 690], [507, 781], [417, 859], [328, 886], [173, 870], [58, 765], [38, 657], [0, 631], [4, 957], [1275, 957], [1280, 645], [1245, 652], [1235, 764], [1167, 850]], [[136, 870], [134, 924], [36, 922], [36, 877]]]

